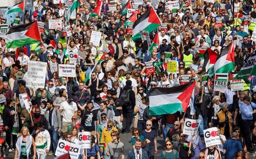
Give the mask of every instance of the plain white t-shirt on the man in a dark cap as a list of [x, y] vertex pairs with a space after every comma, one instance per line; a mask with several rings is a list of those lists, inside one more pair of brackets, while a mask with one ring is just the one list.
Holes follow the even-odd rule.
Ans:
[[62, 110], [62, 122], [72, 122], [72, 116], [75, 115], [75, 111], [77, 111], [77, 105], [75, 102], [68, 103], [67, 101], [62, 102], [59, 108]]

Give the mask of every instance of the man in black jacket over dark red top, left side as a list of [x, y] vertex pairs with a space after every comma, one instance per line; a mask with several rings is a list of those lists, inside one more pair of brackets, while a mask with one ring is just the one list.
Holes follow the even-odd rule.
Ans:
[[40, 108], [35, 108], [35, 114], [29, 118], [28, 121], [28, 128], [29, 128], [29, 133], [32, 134], [32, 131], [36, 130], [37, 127], [35, 127], [35, 123], [41, 122], [44, 125], [44, 128], [48, 130], [48, 122], [47, 119], [44, 117], [44, 115], [41, 114], [41, 109]]

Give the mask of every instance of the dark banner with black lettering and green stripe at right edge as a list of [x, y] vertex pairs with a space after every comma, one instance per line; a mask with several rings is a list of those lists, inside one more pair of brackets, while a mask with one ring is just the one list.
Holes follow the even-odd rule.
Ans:
[[244, 65], [236, 75], [236, 79], [248, 79], [249, 76], [256, 75], [256, 53], [250, 54], [245, 60]]

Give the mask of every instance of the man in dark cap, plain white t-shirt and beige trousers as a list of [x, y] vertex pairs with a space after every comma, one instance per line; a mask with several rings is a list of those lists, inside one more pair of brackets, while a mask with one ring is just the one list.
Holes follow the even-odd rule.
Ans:
[[61, 103], [59, 110], [60, 114], [62, 113], [63, 116], [61, 132], [65, 133], [67, 132], [68, 126], [72, 123], [72, 116], [77, 116], [77, 105], [73, 102], [72, 95], [68, 95], [67, 101]]

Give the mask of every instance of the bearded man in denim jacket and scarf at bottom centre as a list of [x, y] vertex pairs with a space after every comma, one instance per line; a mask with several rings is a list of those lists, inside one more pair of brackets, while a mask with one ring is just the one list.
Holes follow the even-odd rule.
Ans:
[[135, 140], [135, 148], [129, 151], [127, 159], [148, 159], [147, 152], [141, 148], [140, 139]]

